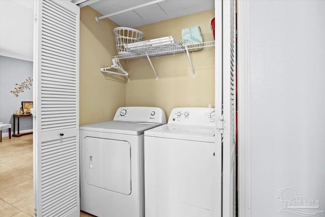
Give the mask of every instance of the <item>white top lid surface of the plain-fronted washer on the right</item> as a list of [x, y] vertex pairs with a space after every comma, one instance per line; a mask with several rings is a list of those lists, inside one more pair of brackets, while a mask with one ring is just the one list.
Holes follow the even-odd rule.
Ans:
[[214, 142], [214, 127], [199, 125], [178, 125], [168, 123], [145, 131], [145, 136], [192, 140], [201, 142]]

